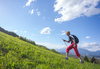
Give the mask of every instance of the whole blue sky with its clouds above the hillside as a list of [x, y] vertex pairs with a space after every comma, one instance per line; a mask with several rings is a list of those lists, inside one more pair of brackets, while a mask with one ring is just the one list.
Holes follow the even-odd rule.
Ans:
[[[0, 26], [48, 48], [65, 47], [66, 31], [79, 47], [100, 50], [100, 0], [0, 0]], [[69, 44], [68, 44], [69, 45]]]

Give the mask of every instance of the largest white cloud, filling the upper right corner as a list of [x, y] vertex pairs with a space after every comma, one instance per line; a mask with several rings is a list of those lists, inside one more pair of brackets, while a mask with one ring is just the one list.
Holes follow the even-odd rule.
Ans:
[[92, 16], [100, 14], [100, 8], [97, 8], [100, 0], [55, 0], [54, 11], [62, 15], [56, 18], [56, 22], [63, 22], [75, 19], [81, 16]]

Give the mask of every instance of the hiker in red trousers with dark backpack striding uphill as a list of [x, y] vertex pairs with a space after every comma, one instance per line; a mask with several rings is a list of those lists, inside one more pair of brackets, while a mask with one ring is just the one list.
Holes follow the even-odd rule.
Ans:
[[66, 35], [69, 37], [69, 41], [67, 40], [64, 40], [64, 42], [71, 42], [71, 45], [69, 45], [66, 49], [66, 59], [68, 60], [68, 53], [69, 51], [73, 48], [74, 51], [75, 51], [75, 54], [77, 55], [77, 57], [79, 58], [80, 60], [80, 63], [84, 63], [84, 61], [82, 60], [82, 58], [80, 57], [81, 55], [79, 54], [78, 52], [78, 49], [77, 49], [77, 43], [79, 42], [78, 38], [75, 36], [75, 35], [71, 35], [70, 34], [70, 31], [67, 31], [66, 32]]

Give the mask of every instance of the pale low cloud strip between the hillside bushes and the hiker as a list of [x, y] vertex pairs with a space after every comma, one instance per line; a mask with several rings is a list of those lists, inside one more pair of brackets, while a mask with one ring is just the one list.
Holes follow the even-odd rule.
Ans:
[[46, 46], [49, 49], [60, 49], [60, 48], [66, 47], [65, 45], [51, 44], [51, 43], [40, 43], [40, 42], [36, 42], [36, 44]]

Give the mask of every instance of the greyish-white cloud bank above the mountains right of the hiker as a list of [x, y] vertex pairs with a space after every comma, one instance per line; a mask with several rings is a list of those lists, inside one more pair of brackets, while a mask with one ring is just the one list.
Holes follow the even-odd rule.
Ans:
[[98, 50], [100, 50], [100, 44], [98, 44], [96, 42], [84, 43], [83, 45], [79, 45], [79, 47], [87, 49], [89, 51], [98, 51]]

